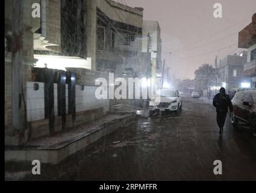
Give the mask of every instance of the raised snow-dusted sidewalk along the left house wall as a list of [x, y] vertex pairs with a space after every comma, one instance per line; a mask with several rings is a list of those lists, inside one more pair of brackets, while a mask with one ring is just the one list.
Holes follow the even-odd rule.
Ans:
[[41, 163], [57, 164], [122, 127], [135, 116], [136, 112], [132, 109], [126, 112], [109, 112], [90, 125], [80, 125], [54, 136], [28, 142], [22, 147], [5, 147], [5, 162], [39, 160]]

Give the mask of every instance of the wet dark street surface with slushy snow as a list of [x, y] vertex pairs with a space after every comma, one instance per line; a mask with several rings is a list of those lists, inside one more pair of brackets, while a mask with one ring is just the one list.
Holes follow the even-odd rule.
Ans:
[[[249, 127], [234, 129], [229, 116], [218, 134], [211, 104], [183, 98], [180, 115], [163, 113], [133, 122], [99, 139], [58, 165], [7, 163], [21, 180], [256, 180], [256, 138]], [[222, 175], [214, 175], [214, 160]]]

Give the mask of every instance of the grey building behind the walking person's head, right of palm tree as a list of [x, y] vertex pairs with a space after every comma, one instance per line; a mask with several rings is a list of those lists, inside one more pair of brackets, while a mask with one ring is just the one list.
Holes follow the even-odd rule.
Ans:
[[220, 60], [218, 66], [217, 86], [225, 87], [228, 91], [234, 91], [241, 87], [241, 83], [246, 80], [243, 77], [243, 65], [246, 63], [247, 54], [227, 55]]

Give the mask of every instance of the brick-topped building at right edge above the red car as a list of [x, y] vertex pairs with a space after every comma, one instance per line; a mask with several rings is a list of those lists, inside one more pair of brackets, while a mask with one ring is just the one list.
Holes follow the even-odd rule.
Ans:
[[[244, 86], [256, 88], [256, 13], [252, 16], [252, 22], [239, 32], [238, 47], [248, 50], [247, 62], [243, 66], [243, 75], [249, 82]], [[251, 81], [251, 85], [249, 85]]]

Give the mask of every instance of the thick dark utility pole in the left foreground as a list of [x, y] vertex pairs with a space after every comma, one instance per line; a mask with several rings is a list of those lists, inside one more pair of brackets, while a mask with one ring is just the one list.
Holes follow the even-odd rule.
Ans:
[[22, 127], [21, 118], [21, 86], [22, 86], [22, 37], [23, 37], [23, 4], [24, 1], [12, 1], [12, 111], [13, 128], [19, 130]]

